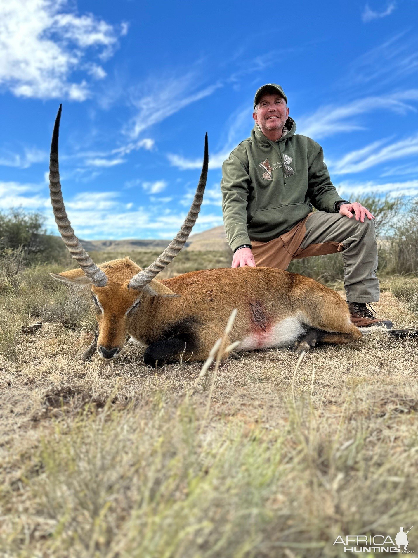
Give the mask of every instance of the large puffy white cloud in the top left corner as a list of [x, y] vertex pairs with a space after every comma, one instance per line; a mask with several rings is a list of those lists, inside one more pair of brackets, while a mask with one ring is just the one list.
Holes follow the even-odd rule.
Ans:
[[[121, 32], [92, 14], [77, 15], [67, 0], [0, 3], [0, 84], [17, 97], [89, 97], [85, 80], [71, 81], [75, 70], [104, 76], [96, 64], [83, 64], [90, 47], [108, 58]], [[123, 31], [123, 30], [121, 30]]]

